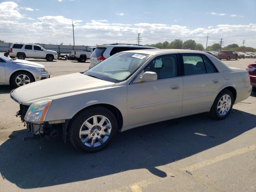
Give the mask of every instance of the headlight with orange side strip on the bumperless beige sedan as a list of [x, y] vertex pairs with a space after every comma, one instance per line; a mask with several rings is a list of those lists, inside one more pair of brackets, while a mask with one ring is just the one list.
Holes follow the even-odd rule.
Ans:
[[36, 123], [44, 122], [44, 118], [46, 117], [51, 103], [51, 99], [44, 99], [32, 103], [26, 112], [24, 120]]

